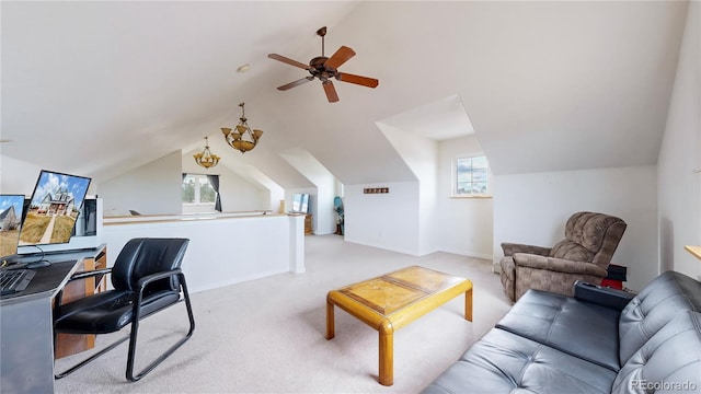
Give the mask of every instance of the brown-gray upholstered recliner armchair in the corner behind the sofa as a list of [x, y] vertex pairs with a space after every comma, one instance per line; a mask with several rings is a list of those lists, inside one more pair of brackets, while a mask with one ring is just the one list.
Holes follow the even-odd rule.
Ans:
[[512, 301], [528, 289], [573, 296], [576, 280], [600, 285], [627, 227], [617, 217], [577, 212], [567, 220], [565, 239], [553, 247], [502, 243], [506, 294]]

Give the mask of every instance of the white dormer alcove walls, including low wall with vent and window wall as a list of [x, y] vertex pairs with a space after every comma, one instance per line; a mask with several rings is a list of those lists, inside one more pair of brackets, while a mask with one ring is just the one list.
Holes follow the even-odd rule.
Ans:
[[[476, 138], [437, 142], [378, 126], [418, 181], [345, 185], [345, 240], [420, 256], [441, 251], [492, 259], [492, 199], [451, 198], [452, 159], [481, 154]], [[390, 193], [364, 195], [366, 187]]]

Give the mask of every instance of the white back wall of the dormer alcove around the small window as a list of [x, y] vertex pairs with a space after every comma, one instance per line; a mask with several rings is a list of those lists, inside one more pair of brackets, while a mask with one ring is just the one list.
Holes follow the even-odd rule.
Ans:
[[[451, 198], [453, 159], [483, 154], [476, 137], [468, 136], [438, 144], [438, 199], [436, 201], [436, 246], [460, 255], [492, 259], [494, 211], [492, 198]], [[490, 188], [494, 176], [490, 171]]]

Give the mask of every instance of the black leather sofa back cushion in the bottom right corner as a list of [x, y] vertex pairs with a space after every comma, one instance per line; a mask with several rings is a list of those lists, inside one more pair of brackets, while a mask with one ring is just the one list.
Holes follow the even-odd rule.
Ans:
[[612, 393], [701, 390], [701, 314], [678, 313], [629, 358]]

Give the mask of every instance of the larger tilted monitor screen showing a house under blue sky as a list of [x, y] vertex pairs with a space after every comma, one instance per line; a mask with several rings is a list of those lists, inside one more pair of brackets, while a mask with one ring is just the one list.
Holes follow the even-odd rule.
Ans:
[[20, 246], [70, 241], [90, 178], [42, 170], [20, 231]]

